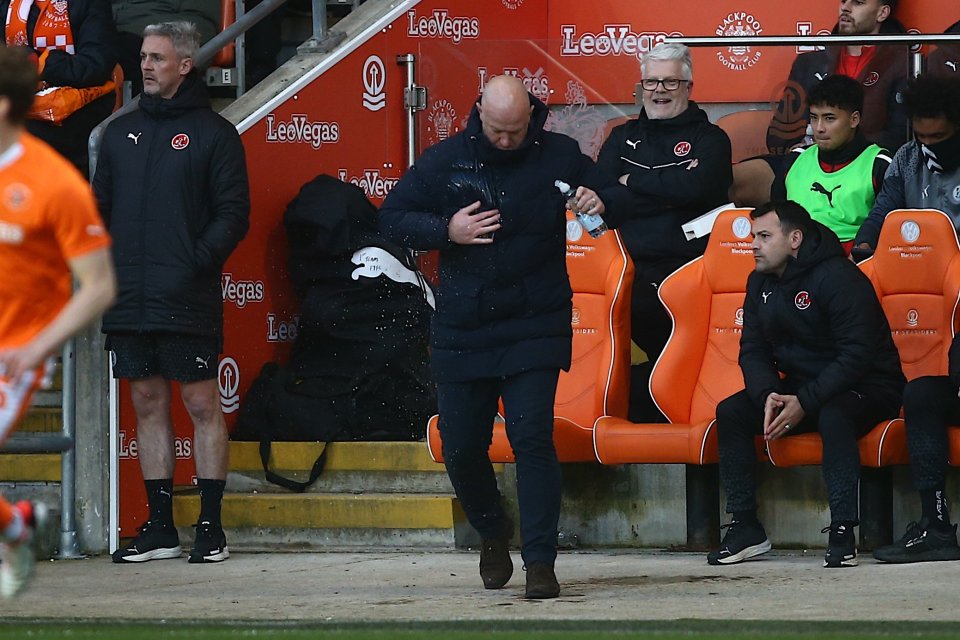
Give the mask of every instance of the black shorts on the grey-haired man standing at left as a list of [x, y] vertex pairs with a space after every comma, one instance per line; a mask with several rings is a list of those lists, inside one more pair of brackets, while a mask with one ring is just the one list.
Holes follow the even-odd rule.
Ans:
[[217, 377], [221, 339], [177, 333], [121, 333], [107, 336], [115, 378], [162, 376], [177, 382]]

